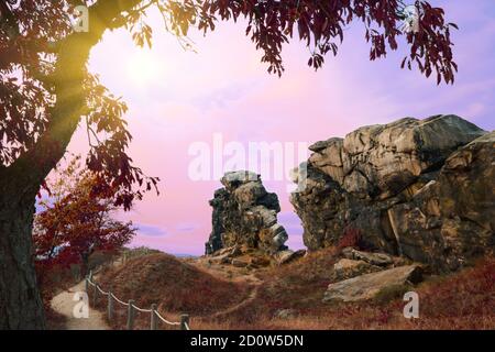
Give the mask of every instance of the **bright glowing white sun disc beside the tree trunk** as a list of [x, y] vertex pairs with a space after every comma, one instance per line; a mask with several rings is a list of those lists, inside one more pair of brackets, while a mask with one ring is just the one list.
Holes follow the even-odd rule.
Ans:
[[161, 65], [151, 51], [139, 50], [128, 59], [127, 74], [135, 84], [152, 84], [160, 78], [161, 73]]

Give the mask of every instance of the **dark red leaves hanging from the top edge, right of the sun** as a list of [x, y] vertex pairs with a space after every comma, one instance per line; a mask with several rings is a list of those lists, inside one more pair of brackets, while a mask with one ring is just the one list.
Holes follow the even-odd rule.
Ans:
[[[195, 1], [185, 1], [194, 3]], [[344, 37], [344, 29], [354, 20], [365, 26], [365, 40], [371, 43], [370, 59], [385, 57], [388, 50], [398, 48], [398, 37], [406, 36], [410, 52], [404, 58], [403, 67], [416, 65], [430, 76], [435, 70], [438, 82], [453, 82], [457, 65], [452, 57], [450, 29], [444, 12], [427, 1], [415, 1], [419, 15], [418, 31], [402, 29], [406, 7], [397, 0], [362, 1], [221, 1], [198, 0], [201, 3], [199, 29], [215, 29], [213, 19], [240, 16], [248, 19], [246, 34], [264, 52], [262, 62], [268, 63], [268, 72], [284, 70], [280, 53], [283, 44], [295, 35], [310, 48], [309, 66], [316, 69], [323, 64], [329, 52], [337, 55], [338, 45]], [[187, 6], [185, 6], [187, 8]]]

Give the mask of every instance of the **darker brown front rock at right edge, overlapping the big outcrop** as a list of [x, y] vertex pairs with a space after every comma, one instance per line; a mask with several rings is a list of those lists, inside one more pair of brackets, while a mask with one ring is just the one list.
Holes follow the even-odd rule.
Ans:
[[398, 250], [457, 270], [495, 249], [495, 132], [454, 152], [436, 180], [389, 209]]

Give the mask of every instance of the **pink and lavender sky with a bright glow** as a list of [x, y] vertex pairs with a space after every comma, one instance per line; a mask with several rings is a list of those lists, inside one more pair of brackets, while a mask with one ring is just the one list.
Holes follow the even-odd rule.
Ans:
[[[460, 69], [453, 86], [437, 86], [417, 70], [400, 69], [405, 46], [370, 62], [359, 22], [345, 30], [338, 57], [328, 56], [318, 72], [307, 66], [304, 43], [293, 41], [283, 52], [282, 78], [266, 73], [262, 53], [244, 35], [242, 23], [220, 23], [206, 37], [191, 33], [195, 52], [184, 51], [153, 12], [151, 51], [136, 48], [124, 30], [107, 33], [91, 52], [89, 69], [129, 106], [127, 120], [134, 136], [130, 154], [135, 164], [162, 179], [160, 196], [150, 193], [133, 210], [119, 213], [139, 229], [132, 245], [204, 253], [211, 232], [208, 200], [221, 184], [212, 170], [209, 180], [191, 176], [199, 155], [194, 153], [196, 146], [213, 168], [215, 161], [226, 164], [233, 155], [229, 153], [241, 153], [242, 147], [249, 157], [250, 143], [279, 143], [287, 156], [286, 170], [290, 163], [305, 160], [309, 155], [305, 146], [316, 141], [404, 117], [455, 113], [494, 130], [493, 0], [430, 2], [443, 7], [448, 20], [460, 26], [453, 33]], [[292, 153], [290, 146], [305, 153]], [[87, 151], [82, 130], [69, 151]], [[289, 234], [288, 245], [302, 248], [300, 220], [288, 200], [289, 180], [275, 177], [273, 169], [264, 172], [265, 187], [280, 201], [278, 220]]]

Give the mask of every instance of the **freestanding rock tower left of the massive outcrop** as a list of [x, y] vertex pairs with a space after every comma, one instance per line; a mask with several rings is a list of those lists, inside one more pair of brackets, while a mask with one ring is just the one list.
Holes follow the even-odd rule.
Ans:
[[288, 235], [277, 223], [278, 198], [266, 191], [260, 175], [227, 173], [221, 183], [224, 187], [216, 190], [210, 200], [212, 232], [206, 243], [206, 254], [234, 245], [270, 255], [286, 250], [284, 243]]

